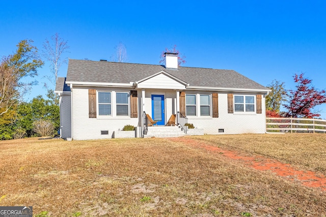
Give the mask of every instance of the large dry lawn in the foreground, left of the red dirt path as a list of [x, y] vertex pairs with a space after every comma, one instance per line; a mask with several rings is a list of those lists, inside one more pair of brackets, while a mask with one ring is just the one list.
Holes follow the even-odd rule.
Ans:
[[170, 139], [4, 141], [0, 168], [0, 206], [32, 205], [34, 214], [326, 214], [324, 192]]

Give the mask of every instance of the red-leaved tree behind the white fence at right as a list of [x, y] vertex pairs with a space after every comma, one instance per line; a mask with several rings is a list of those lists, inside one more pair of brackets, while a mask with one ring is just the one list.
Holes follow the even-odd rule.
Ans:
[[296, 83], [295, 90], [289, 90], [287, 93], [286, 116], [289, 117], [319, 117], [320, 114], [313, 112], [312, 109], [320, 104], [326, 103], [325, 90], [317, 90], [312, 86], [310, 79], [304, 78], [304, 73], [293, 76]]

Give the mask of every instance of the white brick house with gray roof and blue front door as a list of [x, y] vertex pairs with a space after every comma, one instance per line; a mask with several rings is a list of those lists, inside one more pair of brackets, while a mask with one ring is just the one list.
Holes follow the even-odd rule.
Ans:
[[[203, 134], [264, 133], [268, 91], [233, 70], [178, 67], [166, 53], [165, 66], [70, 59], [55, 92], [61, 136], [84, 140], [113, 138], [125, 125], [146, 137], [145, 129], [167, 129], [172, 114]], [[144, 126], [144, 114], [158, 126]]]

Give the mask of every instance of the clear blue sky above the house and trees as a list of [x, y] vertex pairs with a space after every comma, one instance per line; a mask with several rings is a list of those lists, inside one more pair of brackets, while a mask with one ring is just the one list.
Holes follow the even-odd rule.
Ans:
[[[274, 79], [294, 88], [305, 73], [324, 89], [326, 80], [325, 1], [1, 1], [0, 56], [23, 39], [42, 49], [59, 33], [73, 59], [107, 59], [122, 42], [129, 63], [158, 64], [174, 44], [187, 67], [233, 69], [267, 85]], [[26, 99], [45, 90], [39, 85]], [[60, 69], [65, 76], [67, 66]], [[326, 118], [326, 106], [319, 106]]]

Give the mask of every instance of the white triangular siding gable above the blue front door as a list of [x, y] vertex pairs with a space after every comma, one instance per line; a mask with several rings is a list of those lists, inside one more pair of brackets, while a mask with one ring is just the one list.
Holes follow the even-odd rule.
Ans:
[[139, 82], [137, 87], [153, 89], [185, 89], [184, 84], [163, 73]]

